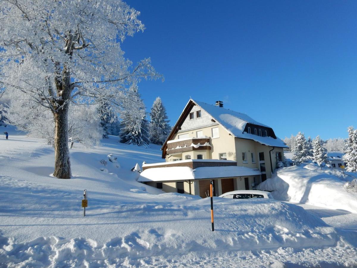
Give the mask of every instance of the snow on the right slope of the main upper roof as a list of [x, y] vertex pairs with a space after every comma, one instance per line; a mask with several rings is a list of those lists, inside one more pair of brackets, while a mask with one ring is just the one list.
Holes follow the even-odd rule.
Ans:
[[203, 110], [205, 110], [208, 114], [210, 114], [218, 123], [224, 126], [228, 131], [230, 131], [235, 137], [243, 138], [243, 139], [251, 139], [258, 143], [289, 148], [281, 139], [272, 138], [272, 137], [262, 137], [254, 134], [249, 134], [244, 131], [247, 123], [260, 125], [266, 128], [271, 128], [270, 126], [264, 125], [255, 121], [250, 116], [242, 113], [238, 113], [236, 111], [228, 110], [223, 107], [203, 103], [201, 101], [192, 100], [198, 106], [200, 106]]

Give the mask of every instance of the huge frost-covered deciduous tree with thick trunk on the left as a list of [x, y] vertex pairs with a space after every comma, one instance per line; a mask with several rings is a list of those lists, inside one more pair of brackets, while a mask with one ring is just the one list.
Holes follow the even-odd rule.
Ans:
[[120, 105], [126, 85], [158, 77], [150, 59], [133, 66], [121, 50], [126, 36], [144, 30], [139, 14], [121, 0], [1, 1], [0, 87], [51, 111], [55, 177], [71, 177], [70, 103]]

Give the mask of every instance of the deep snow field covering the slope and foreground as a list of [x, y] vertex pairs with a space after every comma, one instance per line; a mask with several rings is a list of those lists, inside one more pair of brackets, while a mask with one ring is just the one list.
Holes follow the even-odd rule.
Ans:
[[73, 178], [61, 180], [50, 176], [53, 148], [0, 126], [5, 130], [0, 267], [357, 267], [357, 226], [349, 224], [357, 215], [351, 212], [340, 229], [339, 216], [323, 214], [313, 202], [305, 210], [278, 200], [237, 204], [216, 197], [211, 232], [209, 198], [163, 193], [135, 181], [130, 169], [136, 163], [163, 162], [157, 145], [120, 144], [113, 136], [90, 149], [75, 144]]

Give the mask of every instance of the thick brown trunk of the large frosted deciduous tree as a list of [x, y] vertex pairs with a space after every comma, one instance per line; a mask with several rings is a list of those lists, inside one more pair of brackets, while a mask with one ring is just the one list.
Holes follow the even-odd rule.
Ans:
[[71, 178], [68, 148], [68, 109], [69, 104], [66, 103], [63, 109], [53, 113], [55, 119], [55, 172], [53, 175], [59, 179]]

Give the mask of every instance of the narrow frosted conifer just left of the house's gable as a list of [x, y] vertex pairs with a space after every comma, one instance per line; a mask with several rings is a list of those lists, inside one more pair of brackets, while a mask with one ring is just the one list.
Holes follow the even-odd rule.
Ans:
[[167, 120], [166, 109], [160, 97], [157, 97], [151, 107], [149, 134], [150, 141], [162, 145], [170, 134], [170, 120]]

